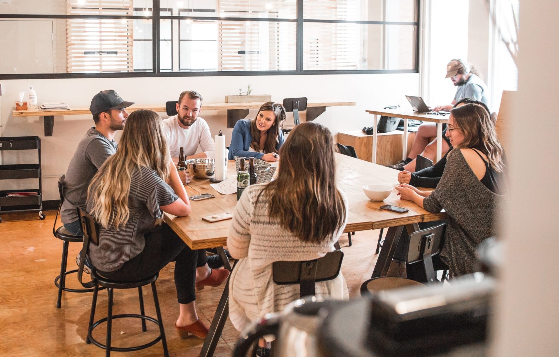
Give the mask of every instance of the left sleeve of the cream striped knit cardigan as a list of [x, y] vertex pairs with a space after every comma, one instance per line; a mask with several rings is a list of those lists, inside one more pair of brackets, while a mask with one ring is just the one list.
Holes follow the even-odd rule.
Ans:
[[227, 248], [231, 257], [235, 259], [245, 258], [248, 255], [248, 247], [250, 244], [250, 221], [254, 204], [250, 199], [249, 189], [247, 187], [241, 196], [239, 202], [235, 206], [233, 213], [233, 221], [229, 228], [229, 236], [227, 237]]

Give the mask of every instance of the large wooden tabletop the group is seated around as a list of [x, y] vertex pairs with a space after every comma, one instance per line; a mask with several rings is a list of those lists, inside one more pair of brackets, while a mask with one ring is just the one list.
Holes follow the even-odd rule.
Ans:
[[[431, 214], [411, 201], [400, 200], [396, 190], [383, 202], [373, 202], [364, 195], [364, 185], [384, 184], [392, 187], [398, 184], [397, 171], [336, 154], [338, 161], [337, 181], [349, 200], [348, 223], [344, 233], [351, 231], [387, 228], [403, 224], [420, 223], [445, 219], [445, 213]], [[227, 177], [234, 176], [235, 162], [228, 163]], [[233, 213], [237, 203], [236, 195], [222, 195], [209, 185], [209, 180], [194, 179], [186, 185], [189, 196], [211, 193], [212, 199], [191, 201], [192, 213], [186, 217], [165, 214], [165, 222], [192, 249], [220, 247], [226, 244], [231, 220], [209, 223], [202, 217], [220, 213]], [[391, 204], [409, 209], [408, 213], [382, 210], [380, 206]]]

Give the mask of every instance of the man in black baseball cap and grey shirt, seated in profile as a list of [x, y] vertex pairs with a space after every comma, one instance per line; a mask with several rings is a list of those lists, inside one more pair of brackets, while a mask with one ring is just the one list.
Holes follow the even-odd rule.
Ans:
[[117, 131], [124, 129], [128, 118], [126, 108], [132, 104], [125, 102], [112, 89], [100, 91], [91, 100], [89, 111], [93, 114], [95, 126], [89, 128], [79, 142], [64, 179], [65, 200], [60, 220], [71, 234], [80, 235], [82, 232], [75, 208], [86, 208], [87, 187], [103, 162], [116, 152], [117, 144], [113, 138]]

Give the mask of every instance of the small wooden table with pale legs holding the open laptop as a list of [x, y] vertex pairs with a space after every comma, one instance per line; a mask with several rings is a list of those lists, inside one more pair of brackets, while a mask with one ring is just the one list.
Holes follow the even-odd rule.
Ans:
[[377, 157], [377, 124], [378, 115], [386, 115], [387, 117], [395, 117], [404, 119], [404, 140], [402, 140], [402, 160], [406, 160], [408, 153], [408, 119], [423, 120], [424, 122], [437, 123], [437, 161], [442, 157], [442, 138], [443, 124], [448, 122], [447, 115], [423, 114], [410, 110], [397, 109], [380, 109], [365, 110], [369, 114], [373, 114], [373, 162], [376, 163]]

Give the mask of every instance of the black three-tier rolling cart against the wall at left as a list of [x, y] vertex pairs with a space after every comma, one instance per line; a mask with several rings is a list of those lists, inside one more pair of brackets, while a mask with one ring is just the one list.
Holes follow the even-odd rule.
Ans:
[[[0, 191], [0, 215], [35, 211], [42, 214], [41, 138], [38, 136], [0, 137], [0, 151], [37, 150], [38, 163], [0, 165], [0, 180], [39, 179], [39, 189]], [[0, 223], [2, 218], [0, 216]]]

